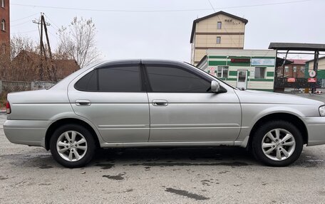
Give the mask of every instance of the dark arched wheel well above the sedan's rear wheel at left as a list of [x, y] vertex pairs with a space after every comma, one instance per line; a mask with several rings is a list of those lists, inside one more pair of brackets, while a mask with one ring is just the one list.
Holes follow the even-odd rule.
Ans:
[[88, 124], [87, 122], [84, 122], [81, 119], [76, 119], [76, 118], [64, 118], [64, 119], [58, 119], [56, 122], [53, 122], [48, 129], [46, 130], [46, 134], [45, 134], [45, 149], [49, 150], [50, 149], [50, 139], [51, 136], [53, 134], [53, 132], [58, 128], [61, 127], [64, 124], [78, 124], [81, 125], [82, 127], [85, 127], [86, 129], [88, 129], [88, 131], [91, 132], [91, 134], [93, 135], [95, 142], [96, 142], [96, 146], [100, 147], [100, 142], [98, 140], [98, 134], [96, 133], [96, 131], [93, 129], [93, 127], [91, 127], [90, 124]]

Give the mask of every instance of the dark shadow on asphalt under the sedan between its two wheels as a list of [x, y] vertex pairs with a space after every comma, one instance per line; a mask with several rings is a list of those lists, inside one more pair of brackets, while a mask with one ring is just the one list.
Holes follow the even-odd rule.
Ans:
[[248, 166], [257, 164], [242, 148], [128, 148], [100, 149], [90, 166]]

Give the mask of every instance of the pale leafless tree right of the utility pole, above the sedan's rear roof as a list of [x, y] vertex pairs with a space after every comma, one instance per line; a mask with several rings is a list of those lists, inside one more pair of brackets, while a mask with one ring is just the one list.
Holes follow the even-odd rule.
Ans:
[[96, 48], [96, 26], [91, 18], [74, 17], [68, 27], [58, 30], [58, 36], [56, 58], [74, 59], [83, 68], [100, 57]]

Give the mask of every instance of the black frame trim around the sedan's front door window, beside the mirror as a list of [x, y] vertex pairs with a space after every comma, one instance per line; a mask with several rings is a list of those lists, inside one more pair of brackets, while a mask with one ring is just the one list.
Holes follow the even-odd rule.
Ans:
[[[180, 70], [185, 70], [187, 73], [191, 73], [192, 75], [195, 75], [195, 76], [199, 77], [200, 79], [205, 80], [209, 84], [211, 84], [211, 81], [212, 81], [210, 78], [201, 75], [201, 73], [196, 73], [195, 71], [190, 70], [190, 69], [185, 68], [185, 67], [182, 67], [180, 65], [159, 64], [159, 63], [145, 63], [145, 64], [143, 64], [143, 68], [145, 70], [145, 79], [147, 80], [146, 85], [147, 85], [147, 91], [148, 92], [155, 92], [155, 91], [153, 91], [153, 88], [151, 87], [150, 80], [149, 80], [149, 75], [148, 75], [148, 70], [147, 70], [147, 67], [150, 67], [150, 66], [179, 68]], [[211, 90], [209, 90], [207, 92], [155, 92], [155, 93], [188, 93], [188, 94], [191, 94], [191, 93], [212, 93], [212, 92], [211, 92]]]

